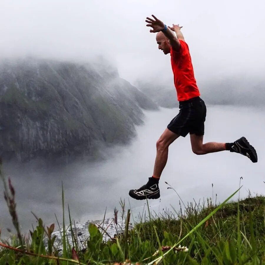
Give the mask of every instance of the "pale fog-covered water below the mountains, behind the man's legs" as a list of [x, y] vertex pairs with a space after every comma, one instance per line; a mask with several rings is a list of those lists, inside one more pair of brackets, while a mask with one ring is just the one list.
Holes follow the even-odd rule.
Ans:
[[[63, 169], [21, 170], [16, 165], [6, 167], [16, 190], [16, 203], [22, 231], [28, 231], [36, 220], [31, 211], [41, 217], [45, 224], [56, 224], [54, 213], [62, 221], [62, 181], [65, 206], [69, 203], [71, 217], [77, 222], [88, 219], [102, 219], [107, 207], [107, 217], [113, 216], [113, 209], [120, 209], [120, 198], [129, 207], [128, 191], [145, 184], [153, 173], [156, 155], [156, 141], [178, 109], [164, 109], [145, 112], [145, 125], [137, 128], [138, 136], [130, 146], [109, 150], [105, 162], [75, 163]], [[208, 106], [204, 142], [233, 142], [246, 136], [258, 153], [258, 163], [228, 151], [195, 155], [191, 151], [189, 136], [178, 138], [169, 148], [168, 163], [160, 180], [160, 200], [150, 200], [151, 211], [164, 208], [179, 209], [179, 198], [184, 203], [213, 196], [213, 201], [223, 201], [239, 187], [240, 197], [264, 194], [265, 164], [263, 141], [265, 135], [265, 110], [254, 107]], [[213, 188], [212, 188], [213, 184]], [[2, 185], [1, 185], [2, 189]], [[234, 197], [236, 199], [237, 197]], [[142, 211], [145, 201], [130, 198], [133, 216]], [[67, 211], [68, 217], [68, 211]], [[55, 225], [56, 227], [57, 224]], [[6, 228], [14, 232], [8, 209], [0, 193], [0, 227], [2, 235]]]

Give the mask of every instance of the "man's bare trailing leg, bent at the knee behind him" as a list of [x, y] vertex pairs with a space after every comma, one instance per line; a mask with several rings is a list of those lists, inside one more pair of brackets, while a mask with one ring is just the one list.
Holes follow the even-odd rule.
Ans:
[[203, 143], [203, 135], [191, 134], [191, 148], [196, 155], [205, 155], [226, 150], [225, 143], [209, 142]]

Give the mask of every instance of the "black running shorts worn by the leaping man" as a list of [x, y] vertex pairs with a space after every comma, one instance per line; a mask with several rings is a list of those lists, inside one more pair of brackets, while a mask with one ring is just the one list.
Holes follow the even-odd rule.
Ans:
[[200, 97], [179, 102], [179, 113], [168, 125], [168, 130], [185, 137], [188, 133], [204, 135], [206, 106]]

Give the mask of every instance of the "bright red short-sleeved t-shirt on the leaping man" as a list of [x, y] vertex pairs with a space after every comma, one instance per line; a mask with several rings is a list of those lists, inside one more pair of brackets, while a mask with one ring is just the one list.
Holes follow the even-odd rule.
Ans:
[[194, 77], [188, 44], [183, 40], [179, 42], [180, 51], [176, 52], [171, 47], [170, 55], [178, 101], [183, 101], [200, 96], [200, 92]]

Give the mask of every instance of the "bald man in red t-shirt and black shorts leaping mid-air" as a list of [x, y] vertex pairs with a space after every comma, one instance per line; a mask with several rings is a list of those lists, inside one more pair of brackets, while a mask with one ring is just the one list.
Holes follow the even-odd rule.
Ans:
[[200, 98], [196, 85], [188, 44], [180, 32], [181, 27], [174, 24], [173, 27], [167, 27], [161, 20], [152, 16], [153, 19], [147, 17], [145, 20], [148, 23], [146, 26], [153, 28], [150, 32], [158, 32], [156, 35], [158, 49], [164, 54], [170, 53], [180, 111], [156, 143], [157, 154], [152, 177], [141, 188], [129, 192], [129, 195], [137, 200], [160, 197], [158, 182], [167, 163], [168, 147], [179, 136], [185, 137], [188, 133], [192, 151], [197, 155], [229, 150], [247, 156], [253, 163], [258, 161], [256, 150], [245, 137], [233, 143], [203, 143], [206, 106]]

